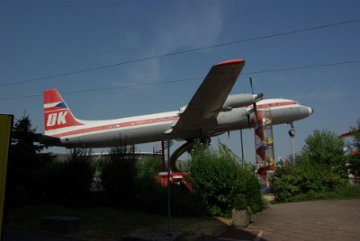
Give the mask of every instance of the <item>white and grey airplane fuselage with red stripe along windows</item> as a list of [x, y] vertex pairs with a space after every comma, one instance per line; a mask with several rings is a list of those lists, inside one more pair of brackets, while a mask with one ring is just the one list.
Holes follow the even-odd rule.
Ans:
[[[268, 99], [257, 102], [257, 112], [267, 110], [271, 112], [273, 124], [282, 124], [302, 120], [313, 112], [310, 107], [286, 99]], [[134, 116], [106, 121], [81, 121], [81, 127], [68, 127], [61, 132], [47, 131], [47, 135], [60, 139], [60, 146], [78, 147], [111, 147], [118, 145], [139, 144], [164, 139], [191, 139], [213, 137], [221, 133], [248, 129], [249, 121], [255, 119], [253, 106], [233, 108], [219, 112], [216, 121], [211, 121], [193, 134], [179, 135], [166, 130], [175, 126], [181, 117], [181, 110], [161, 112], [155, 114]], [[79, 120], [80, 121], [80, 120]]]

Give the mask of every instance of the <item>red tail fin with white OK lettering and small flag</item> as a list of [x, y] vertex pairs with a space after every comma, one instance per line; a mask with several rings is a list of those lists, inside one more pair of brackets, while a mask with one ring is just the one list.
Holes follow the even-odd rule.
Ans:
[[56, 89], [44, 90], [43, 103], [45, 134], [50, 134], [49, 130], [83, 125], [76, 120]]

